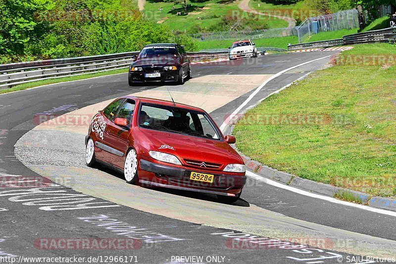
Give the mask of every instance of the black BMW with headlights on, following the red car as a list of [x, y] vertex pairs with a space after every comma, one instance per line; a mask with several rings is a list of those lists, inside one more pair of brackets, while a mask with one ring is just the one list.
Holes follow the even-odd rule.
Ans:
[[146, 82], [177, 82], [191, 78], [191, 63], [184, 47], [178, 44], [150, 44], [129, 66], [130, 86]]

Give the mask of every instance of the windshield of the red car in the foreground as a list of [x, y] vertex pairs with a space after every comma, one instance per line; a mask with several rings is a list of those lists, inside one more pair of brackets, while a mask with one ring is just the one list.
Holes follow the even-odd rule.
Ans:
[[205, 113], [180, 107], [143, 104], [139, 113], [139, 125], [155, 130], [220, 139], [219, 133]]

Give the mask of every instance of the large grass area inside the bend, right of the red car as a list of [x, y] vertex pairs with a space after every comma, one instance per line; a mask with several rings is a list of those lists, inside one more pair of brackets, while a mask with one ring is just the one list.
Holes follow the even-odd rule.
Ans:
[[237, 147], [305, 179], [396, 197], [396, 47], [343, 53], [362, 54], [393, 56], [317, 71], [268, 98], [237, 123]]

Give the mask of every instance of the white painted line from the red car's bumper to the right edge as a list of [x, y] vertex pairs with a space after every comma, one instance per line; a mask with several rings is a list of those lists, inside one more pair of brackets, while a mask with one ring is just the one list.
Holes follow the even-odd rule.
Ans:
[[324, 195], [320, 195], [320, 194], [314, 194], [311, 192], [307, 192], [307, 191], [303, 191], [300, 189], [297, 189], [295, 187], [289, 186], [289, 185], [284, 185], [282, 183], [267, 179], [265, 177], [262, 177], [260, 175], [257, 175], [251, 171], [246, 171], [246, 175], [250, 178], [253, 178], [255, 180], [261, 181], [263, 183], [266, 183], [268, 185], [277, 187], [277, 188], [281, 188], [284, 190], [288, 190], [297, 194], [301, 194], [304, 196], [309, 196], [312, 198], [316, 198], [316, 199], [321, 199], [321, 200], [325, 200], [334, 204], [339, 204], [339, 205], [344, 205], [344, 206], [350, 206], [350, 207], [354, 207], [354, 208], [358, 208], [358, 209], [362, 209], [362, 210], [366, 210], [366, 211], [371, 211], [371, 212], [376, 212], [376, 213], [381, 213], [381, 214], [386, 214], [386, 215], [391, 215], [391, 216], [396, 216], [396, 212], [395, 211], [388, 211], [388, 210], [383, 210], [383, 209], [377, 209], [377, 208], [373, 208], [373, 207], [369, 207], [369, 206], [363, 206], [363, 205], [359, 205], [359, 204], [353, 204], [353, 203], [349, 203], [346, 201], [342, 201], [342, 200], [338, 200], [336, 198], [333, 197], [329, 197], [329, 196], [324, 196]]

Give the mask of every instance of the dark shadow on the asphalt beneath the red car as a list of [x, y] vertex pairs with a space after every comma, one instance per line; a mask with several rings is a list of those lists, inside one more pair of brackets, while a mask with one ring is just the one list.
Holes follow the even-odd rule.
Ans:
[[[95, 168], [97, 168], [103, 172], [106, 172], [110, 175], [113, 175], [114, 177], [117, 177], [125, 182], [124, 175], [119, 170], [114, 170], [110, 166], [103, 164], [103, 163], [96, 163]], [[125, 184], [128, 184], [128, 183], [125, 182]], [[150, 190], [155, 190], [155, 191], [162, 192], [162, 193], [173, 194], [173, 195], [188, 197], [188, 198], [192, 198], [192, 199], [197, 199], [197, 200], [203, 200], [203, 201], [208, 201], [208, 202], [213, 202], [213, 203], [218, 203], [218, 204], [227, 204], [227, 203], [220, 202], [215, 195], [210, 195], [210, 194], [168, 189], [168, 188], [162, 188], [162, 187], [146, 187], [146, 186], [145, 187], [139, 186], [139, 187], [150, 189]], [[239, 207], [250, 207], [250, 204], [242, 198], [240, 198], [237, 202], [234, 202], [229, 205], [239, 206]]]

